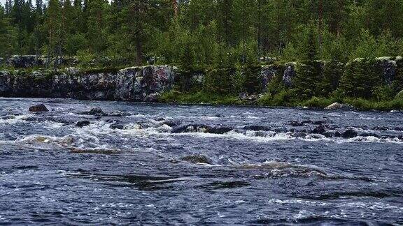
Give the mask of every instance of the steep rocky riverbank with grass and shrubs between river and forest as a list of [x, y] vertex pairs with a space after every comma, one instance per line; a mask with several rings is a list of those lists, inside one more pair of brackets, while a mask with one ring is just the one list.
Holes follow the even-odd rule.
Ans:
[[[50, 72], [30, 69], [34, 60], [14, 57], [10, 66], [17, 69], [0, 70], [0, 96], [320, 108], [339, 102], [358, 110], [403, 109], [402, 95], [396, 96], [403, 86], [402, 57], [357, 59], [346, 65], [317, 61], [320, 82], [315, 89], [320, 91], [311, 90], [317, 81], [301, 82], [301, 77], [310, 76], [303, 63], [191, 71], [174, 66], [83, 70], [67, 65]], [[372, 77], [365, 79], [365, 73]]]

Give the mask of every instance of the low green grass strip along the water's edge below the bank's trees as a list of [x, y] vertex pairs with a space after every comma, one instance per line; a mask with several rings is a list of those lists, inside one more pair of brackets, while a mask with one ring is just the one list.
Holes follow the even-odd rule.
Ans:
[[352, 105], [357, 110], [403, 110], [403, 98], [395, 98], [388, 101], [365, 100], [362, 98], [318, 98], [309, 100], [294, 100], [290, 93], [281, 92], [276, 96], [264, 94], [256, 101], [241, 100], [237, 96], [220, 95], [199, 91], [195, 93], [181, 93], [170, 91], [163, 93], [160, 97], [161, 103], [191, 103], [191, 104], [212, 104], [212, 105], [258, 105], [265, 107], [310, 107], [325, 108], [332, 103], [344, 103]]

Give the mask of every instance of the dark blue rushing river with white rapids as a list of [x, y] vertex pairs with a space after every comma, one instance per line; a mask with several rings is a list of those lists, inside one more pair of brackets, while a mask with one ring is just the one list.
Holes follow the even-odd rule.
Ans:
[[6, 225], [403, 224], [401, 112], [0, 98], [0, 163]]

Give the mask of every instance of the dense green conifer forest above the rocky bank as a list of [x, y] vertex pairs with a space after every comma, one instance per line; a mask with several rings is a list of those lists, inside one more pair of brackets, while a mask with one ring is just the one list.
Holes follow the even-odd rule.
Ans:
[[[313, 38], [312, 38], [313, 37]], [[147, 59], [185, 70], [403, 52], [403, 0], [7, 0], [0, 57]], [[267, 62], [265, 62], [267, 63]]]

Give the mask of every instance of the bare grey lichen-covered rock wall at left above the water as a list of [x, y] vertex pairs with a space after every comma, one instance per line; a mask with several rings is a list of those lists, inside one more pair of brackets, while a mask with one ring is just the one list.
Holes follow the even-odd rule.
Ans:
[[22, 74], [0, 71], [0, 96], [76, 98], [80, 100], [155, 101], [174, 82], [171, 66], [126, 68], [118, 72]]

